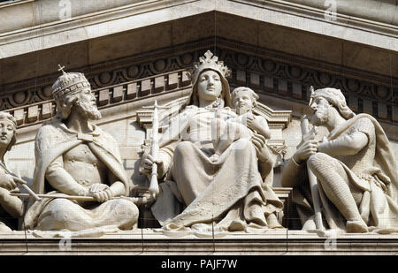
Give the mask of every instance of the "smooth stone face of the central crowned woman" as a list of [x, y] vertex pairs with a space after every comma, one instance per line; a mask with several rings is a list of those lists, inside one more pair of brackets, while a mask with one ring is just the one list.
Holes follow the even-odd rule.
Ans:
[[207, 70], [197, 80], [197, 95], [205, 101], [215, 101], [221, 95], [223, 85], [218, 72]]

